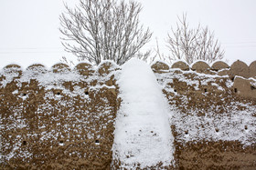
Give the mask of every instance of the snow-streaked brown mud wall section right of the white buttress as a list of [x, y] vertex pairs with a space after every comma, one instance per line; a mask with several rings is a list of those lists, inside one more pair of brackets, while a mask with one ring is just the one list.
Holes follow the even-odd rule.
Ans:
[[[255, 62], [253, 62], [255, 63]], [[251, 65], [253, 65], [253, 63]], [[152, 65], [169, 102], [178, 169], [255, 169], [253, 67], [238, 61]]]

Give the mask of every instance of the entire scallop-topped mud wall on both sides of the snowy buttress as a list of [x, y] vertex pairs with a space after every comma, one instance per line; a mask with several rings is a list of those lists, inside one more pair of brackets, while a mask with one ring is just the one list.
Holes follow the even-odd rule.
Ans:
[[[5, 66], [1, 169], [111, 169], [120, 69], [112, 62]], [[170, 105], [177, 169], [256, 167], [255, 62], [152, 69]]]

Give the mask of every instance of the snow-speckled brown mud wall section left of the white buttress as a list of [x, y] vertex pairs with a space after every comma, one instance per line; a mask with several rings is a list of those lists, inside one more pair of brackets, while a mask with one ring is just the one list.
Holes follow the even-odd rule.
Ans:
[[117, 86], [107, 62], [7, 65], [0, 75], [0, 169], [110, 169]]

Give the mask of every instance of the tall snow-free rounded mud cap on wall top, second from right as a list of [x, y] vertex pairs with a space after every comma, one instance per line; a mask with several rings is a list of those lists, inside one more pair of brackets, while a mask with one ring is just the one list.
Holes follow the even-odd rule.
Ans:
[[250, 69], [249, 66], [246, 65], [244, 62], [238, 60], [234, 62], [230, 67], [230, 73], [232, 75], [240, 75], [245, 78], [250, 77]]

